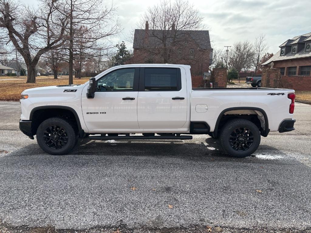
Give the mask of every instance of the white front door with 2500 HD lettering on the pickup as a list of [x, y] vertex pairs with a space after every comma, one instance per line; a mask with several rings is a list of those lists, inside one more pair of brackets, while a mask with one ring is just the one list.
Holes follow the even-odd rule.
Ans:
[[[139, 68], [114, 70], [97, 82], [93, 99], [82, 95], [82, 111], [89, 130], [139, 129], [137, 122]], [[84, 88], [84, 90], [86, 90]], [[107, 131], [107, 132], [108, 132]]]

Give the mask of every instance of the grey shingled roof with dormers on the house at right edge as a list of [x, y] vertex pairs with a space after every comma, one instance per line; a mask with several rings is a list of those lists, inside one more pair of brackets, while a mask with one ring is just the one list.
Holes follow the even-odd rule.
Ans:
[[[304, 43], [306, 41], [309, 41], [311, 38], [311, 32], [299, 36], [295, 36], [293, 39], [285, 41], [280, 47], [283, 46], [291, 46], [296, 43]], [[267, 62], [262, 63], [261, 65], [268, 65], [270, 62], [274, 61], [282, 61], [282, 60], [289, 60], [289, 59], [296, 59], [296, 58], [304, 58], [304, 57], [311, 57], [311, 51], [305, 52], [305, 49], [301, 49], [298, 51], [298, 53], [287, 53], [284, 56], [280, 56], [281, 50], [279, 50], [277, 53], [275, 53]]]

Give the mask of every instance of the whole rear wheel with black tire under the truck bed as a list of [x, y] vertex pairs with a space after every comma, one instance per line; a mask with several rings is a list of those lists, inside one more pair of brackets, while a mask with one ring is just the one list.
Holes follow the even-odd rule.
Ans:
[[251, 121], [234, 119], [222, 127], [220, 142], [224, 150], [231, 156], [247, 157], [257, 150], [260, 144], [260, 131]]

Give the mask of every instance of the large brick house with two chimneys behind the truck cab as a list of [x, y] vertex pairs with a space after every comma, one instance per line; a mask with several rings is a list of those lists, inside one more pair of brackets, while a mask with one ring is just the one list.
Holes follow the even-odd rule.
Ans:
[[192, 75], [209, 72], [212, 62], [208, 30], [168, 30], [135, 29], [133, 57], [126, 62], [134, 63], [171, 63], [191, 66]]

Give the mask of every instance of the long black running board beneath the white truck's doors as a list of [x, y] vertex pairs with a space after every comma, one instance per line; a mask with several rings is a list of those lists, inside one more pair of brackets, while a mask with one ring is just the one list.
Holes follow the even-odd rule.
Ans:
[[167, 135], [167, 136], [89, 136], [90, 140], [191, 140], [188, 135]]

